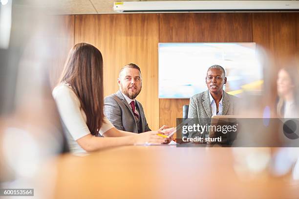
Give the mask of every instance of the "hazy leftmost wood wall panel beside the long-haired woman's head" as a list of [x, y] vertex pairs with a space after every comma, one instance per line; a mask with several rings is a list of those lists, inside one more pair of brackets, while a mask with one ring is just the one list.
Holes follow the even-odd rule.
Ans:
[[62, 73], [68, 52], [74, 45], [75, 28], [74, 15], [59, 15], [54, 16], [54, 18], [56, 30], [50, 30], [51, 32], [54, 32], [53, 38], [56, 42], [55, 49], [52, 49], [51, 52], [55, 59], [53, 59], [53, 67], [49, 71], [50, 84], [52, 88], [56, 85]]

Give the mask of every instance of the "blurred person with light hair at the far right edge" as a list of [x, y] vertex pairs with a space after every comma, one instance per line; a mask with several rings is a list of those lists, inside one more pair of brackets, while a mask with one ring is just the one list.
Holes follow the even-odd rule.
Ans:
[[277, 79], [277, 116], [299, 118], [299, 73], [296, 65], [282, 68]]

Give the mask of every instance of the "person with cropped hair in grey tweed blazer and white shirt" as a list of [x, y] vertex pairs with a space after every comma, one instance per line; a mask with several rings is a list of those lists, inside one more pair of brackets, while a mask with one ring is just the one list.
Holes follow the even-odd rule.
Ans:
[[[192, 96], [188, 118], [195, 118], [194, 122], [209, 125], [214, 115], [235, 115], [235, 101], [238, 98], [223, 91], [226, 81], [224, 68], [219, 65], [211, 66], [206, 77], [208, 90]], [[195, 136], [198, 136], [198, 132], [189, 133], [189, 137]]]

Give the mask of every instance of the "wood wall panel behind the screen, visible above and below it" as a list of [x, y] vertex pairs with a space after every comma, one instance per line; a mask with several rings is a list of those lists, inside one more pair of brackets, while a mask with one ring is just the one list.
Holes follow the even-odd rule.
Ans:
[[[159, 42], [252, 42], [251, 13], [160, 14]], [[160, 99], [160, 125], [176, 125], [189, 99]]]

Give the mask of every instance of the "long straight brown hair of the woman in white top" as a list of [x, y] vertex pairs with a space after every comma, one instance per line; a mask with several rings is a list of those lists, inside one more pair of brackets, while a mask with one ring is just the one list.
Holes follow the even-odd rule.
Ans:
[[97, 135], [104, 118], [103, 58], [91, 44], [77, 43], [69, 52], [59, 83], [66, 82], [81, 102], [86, 124]]

